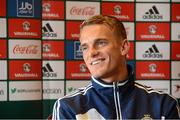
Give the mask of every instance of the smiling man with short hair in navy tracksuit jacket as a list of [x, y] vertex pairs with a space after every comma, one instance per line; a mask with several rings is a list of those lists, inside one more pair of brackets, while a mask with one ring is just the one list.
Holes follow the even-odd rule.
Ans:
[[130, 44], [118, 19], [96, 15], [84, 21], [80, 43], [91, 84], [57, 100], [53, 119], [180, 118], [174, 98], [134, 82], [126, 62]]

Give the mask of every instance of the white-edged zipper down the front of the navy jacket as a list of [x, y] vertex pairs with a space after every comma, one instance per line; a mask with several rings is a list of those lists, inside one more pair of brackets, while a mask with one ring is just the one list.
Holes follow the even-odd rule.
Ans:
[[119, 97], [119, 90], [118, 90], [117, 82], [113, 82], [113, 93], [114, 93], [114, 103], [115, 103], [115, 108], [116, 108], [117, 120], [122, 120], [121, 104], [120, 104], [120, 97]]

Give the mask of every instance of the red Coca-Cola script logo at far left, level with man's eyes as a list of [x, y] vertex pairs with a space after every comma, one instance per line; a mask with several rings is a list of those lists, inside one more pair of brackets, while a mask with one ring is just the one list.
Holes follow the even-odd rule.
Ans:
[[14, 54], [37, 54], [38, 53], [37, 45], [28, 45], [28, 46], [20, 46], [16, 45], [13, 49]]

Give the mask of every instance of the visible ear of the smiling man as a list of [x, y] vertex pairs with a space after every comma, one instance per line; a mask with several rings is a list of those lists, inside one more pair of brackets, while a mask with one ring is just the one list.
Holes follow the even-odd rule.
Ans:
[[124, 55], [126, 56], [129, 52], [129, 49], [130, 49], [130, 43], [127, 39], [124, 39], [122, 42], [121, 42], [121, 48], [120, 48], [120, 51], [121, 51], [121, 55]]

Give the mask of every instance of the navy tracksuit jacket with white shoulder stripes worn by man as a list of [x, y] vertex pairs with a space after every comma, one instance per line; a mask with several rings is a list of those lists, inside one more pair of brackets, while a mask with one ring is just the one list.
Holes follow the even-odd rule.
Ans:
[[173, 97], [134, 82], [129, 66], [128, 71], [122, 83], [92, 77], [90, 85], [56, 101], [53, 119], [180, 119]]

